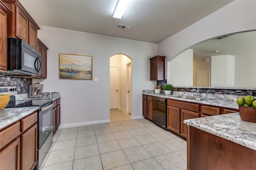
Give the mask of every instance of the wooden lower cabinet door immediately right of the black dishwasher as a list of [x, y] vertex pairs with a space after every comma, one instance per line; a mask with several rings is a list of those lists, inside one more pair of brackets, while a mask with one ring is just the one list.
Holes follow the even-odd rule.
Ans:
[[180, 109], [167, 106], [167, 129], [180, 133]]

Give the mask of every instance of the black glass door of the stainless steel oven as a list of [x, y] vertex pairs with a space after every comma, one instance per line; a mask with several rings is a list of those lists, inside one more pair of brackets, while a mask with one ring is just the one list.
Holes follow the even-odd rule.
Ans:
[[52, 132], [53, 102], [39, 109], [38, 112], [38, 149]]

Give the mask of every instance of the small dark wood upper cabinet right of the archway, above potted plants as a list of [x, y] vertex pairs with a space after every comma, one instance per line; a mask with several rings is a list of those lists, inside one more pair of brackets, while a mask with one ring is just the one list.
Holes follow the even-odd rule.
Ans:
[[165, 56], [150, 58], [150, 80], [165, 80]]

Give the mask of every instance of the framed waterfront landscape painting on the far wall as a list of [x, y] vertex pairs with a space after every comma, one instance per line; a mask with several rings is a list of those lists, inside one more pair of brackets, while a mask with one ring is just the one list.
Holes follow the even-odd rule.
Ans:
[[59, 53], [60, 79], [92, 80], [92, 56]]

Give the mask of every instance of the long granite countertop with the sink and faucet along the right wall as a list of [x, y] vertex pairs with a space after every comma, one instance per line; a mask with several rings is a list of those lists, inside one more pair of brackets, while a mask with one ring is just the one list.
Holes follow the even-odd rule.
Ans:
[[[238, 109], [238, 104], [234, 100], [225, 100], [225, 99], [216, 99], [216, 100], [203, 100], [203, 101], [198, 101], [198, 100], [191, 100], [191, 99], [183, 99], [183, 98], [177, 98], [175, 97], [176, 95], [165, 95], [165, 94], [156, 94], [156, 93], [142, 93], [145, 95], [150, 95], [150, 96], [156, 96], [160, 98], [167, 98], [167, 99], [175, 99], [175, 100], [182, 100], [186, 102], [194, 102], [194, 103], [200, 103], [200, 104], [207, 104], [207, 105], [212, 105], [212, 106], [220, 106], [220, 107], [228, 107], [232, 109]], [[182, 95], [177, 95], [177, 96], [182, 96]], [[208, 96], [204, 96], [207, 98]], [[204, 98], [202, 96], [202, 98]]]

